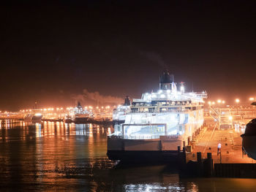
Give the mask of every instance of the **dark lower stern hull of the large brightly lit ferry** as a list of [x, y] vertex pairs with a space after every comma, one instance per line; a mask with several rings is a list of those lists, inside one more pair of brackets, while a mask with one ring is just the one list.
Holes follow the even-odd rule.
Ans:
[[159, 139], [124, 139], [108, 137], [108, 158], [125, 163], [169, 164], [178, 161], [178, 146], [182, 149], [181, 137]]

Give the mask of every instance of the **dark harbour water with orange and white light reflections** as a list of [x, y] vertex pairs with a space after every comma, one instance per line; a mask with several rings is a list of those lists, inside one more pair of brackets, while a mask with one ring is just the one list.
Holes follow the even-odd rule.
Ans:
[[112, 127], [0, 123], [0, 191], [255, 191], [253, 179], [181, 179], [167, 166], [108, 160]]

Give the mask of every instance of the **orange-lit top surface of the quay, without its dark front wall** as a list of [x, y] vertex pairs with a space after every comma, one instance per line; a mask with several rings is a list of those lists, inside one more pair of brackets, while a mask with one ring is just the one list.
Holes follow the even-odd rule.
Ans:
[[192, 153], [187, 154], [187, 161], [196, 161], [197, 152], [201, 152], [202, 158], [207, 158], [207, 153], [212, 154], [214, 163], [220, 163], [220, 154], [218, 155], [218, 145], [221, 144], [222, 164], [252, 164], [255, 160], [243, 154], [241, 130], [218, 129], [214, 120], [206, 121], [206, 125], [195, 136], [195, 147]]

